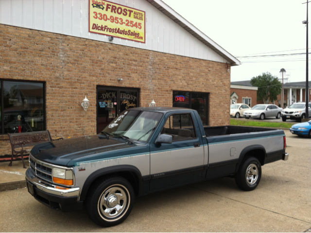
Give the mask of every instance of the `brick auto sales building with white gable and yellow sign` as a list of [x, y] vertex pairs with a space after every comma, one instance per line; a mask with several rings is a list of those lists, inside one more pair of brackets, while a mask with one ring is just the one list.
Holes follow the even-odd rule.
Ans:
[[[96, 134], [152, 100], [196, 109], [204, 125], [230, 123], [230, 68], [240, 62], [161, 0], [118, 3], [0, 0], [0, 155], [18, 124], [54, 138]], [[120, 16], [131, 33], [113, 33]], [[100, 25], [108, 21], [116, 30]]]

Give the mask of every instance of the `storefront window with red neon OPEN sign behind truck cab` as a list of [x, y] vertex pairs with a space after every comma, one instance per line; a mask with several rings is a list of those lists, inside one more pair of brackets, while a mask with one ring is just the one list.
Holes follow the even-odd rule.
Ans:
[[208, 125], [207, 104], [207, 93], [173, 91], [173, 107], [197, 110], [203, 125]]

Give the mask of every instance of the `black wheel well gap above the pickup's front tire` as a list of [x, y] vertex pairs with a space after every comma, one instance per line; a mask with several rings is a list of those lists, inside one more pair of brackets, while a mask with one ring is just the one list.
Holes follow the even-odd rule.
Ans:
[[[97, 177], [96, 179], [94, 179], [92, 183], [89, 185], [89, 187], [91, 187], [92, 184], [99, 182], [101, 179], [104, 179], [105, 177], [111, 177], [111, 176], [123, 177], [124, 179], [127, 179], [132, 185], [135, 195], [138, 196], [139, 190], [140, 190], [140, 183], [139, 183], [138, 175], [135, 172], [130, 172], [130, 171], [118, 171], [118, 172], [111, 172], [111, 173], [103, 174]], [[88, 187], [88, 190], [89, 190], [89, 187]]]

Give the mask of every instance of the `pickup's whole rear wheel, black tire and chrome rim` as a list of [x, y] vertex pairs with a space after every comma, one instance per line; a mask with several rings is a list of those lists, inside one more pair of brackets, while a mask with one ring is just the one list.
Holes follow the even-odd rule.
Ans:
[[235, 182], [240, 189], [252, 191], [258, 186], [260, 178], [260, 162], [255, 157], [250, 157], [245, 161], [242, 161], [239, 170], [235, 175]]

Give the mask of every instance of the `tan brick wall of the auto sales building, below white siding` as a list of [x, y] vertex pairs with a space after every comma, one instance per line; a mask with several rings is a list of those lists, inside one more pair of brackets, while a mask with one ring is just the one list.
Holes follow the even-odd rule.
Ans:
[[[54, 138], [82, 136], [85, 128], [96, 134], [97, 85], [139, 88], [142, 107], [153, 99], [157, 107], [172, 107], [173, 90], [209, 92], [209, 125], [230, 124], [224, 63], [0, 24], [0, 78], [46, 82], [47, 129]], [[0, 155], [10, 154], [7, 136], [0, 140]]]

